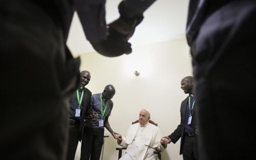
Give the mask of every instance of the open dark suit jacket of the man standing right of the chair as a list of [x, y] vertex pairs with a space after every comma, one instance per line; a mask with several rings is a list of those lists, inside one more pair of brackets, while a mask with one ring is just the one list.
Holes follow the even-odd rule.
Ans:
[[[181, 102], [181, 123], [178, 125], [178, 127], [175, 129], [171, 135], [168, 137], [171, 139], [172, 143], [176, 143], [181, 138], [181, 149], [180, 149], [180, 155], [182, 154], [182, 147], [183, 147], [183, 137], [185, 132], [185, 120], [186, 120], [186, 113], [187, 113], [187, 103], [188, 103], [188, 96], [187, 98]], [[196, 130], [197, 126], [197, 101], [195, 101], [193, 110], [192, 110], [192, 128]]]

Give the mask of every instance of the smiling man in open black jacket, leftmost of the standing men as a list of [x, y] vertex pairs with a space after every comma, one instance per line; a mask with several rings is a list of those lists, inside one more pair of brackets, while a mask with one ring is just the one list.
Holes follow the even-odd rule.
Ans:
[[88, 85], [90, 80], [90, 72], [83, 70], [80, 73], [80, 87], [76, 90], [70, 100], [69, 140], [66, 160], [75, 159], [78, 141], [81, 141], [82, 139], [85, 114], [91, 114], [91, 91], [85, 88], [85, 85]]

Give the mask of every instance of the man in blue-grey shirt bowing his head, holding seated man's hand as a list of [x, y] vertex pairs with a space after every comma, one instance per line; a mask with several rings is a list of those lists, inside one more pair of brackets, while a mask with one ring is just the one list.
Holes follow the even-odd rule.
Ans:
[[[85, 132], [82, 139], [81, 160], [99, 160], [101, 156], [101, 148], [104, 139], [104, 127], [114, 137], [115, 132], [108, 123], [108, 117], [113, 108], [112, 97], [116, 90], [113, 85], [107, 85], [102, 93], [91, 96], [92, 111], [96, 112], [98, 119], [96, 121], [91, 118], [85, 118]], [[91, 156], [91, 158], [90, 158]]]

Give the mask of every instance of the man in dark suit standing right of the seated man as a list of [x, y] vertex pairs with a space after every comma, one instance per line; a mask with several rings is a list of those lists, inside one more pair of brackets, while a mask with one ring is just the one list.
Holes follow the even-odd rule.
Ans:
[[193, 95], [194, 78], [192, 76], [184, 77], [181, 80], [181, 89], [188, 97], [181, 102], [181, 124], [171, 135], [165, 137], [169, 143], [176, 143], [181, 138], [180, 155], [183, 160], [198, 160], [197, 155], [197, 113], [196, 100]]

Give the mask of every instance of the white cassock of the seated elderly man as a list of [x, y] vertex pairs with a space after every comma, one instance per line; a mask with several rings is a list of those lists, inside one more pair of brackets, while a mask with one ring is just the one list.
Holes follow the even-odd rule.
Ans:
[[151, 123], [131, 125], [119, 144], [127, 148], [119, 160], [159, 160], [154, 151], [165, 150], [160, 143], [161, 138], [160, 129]]

